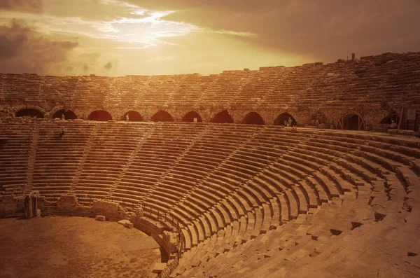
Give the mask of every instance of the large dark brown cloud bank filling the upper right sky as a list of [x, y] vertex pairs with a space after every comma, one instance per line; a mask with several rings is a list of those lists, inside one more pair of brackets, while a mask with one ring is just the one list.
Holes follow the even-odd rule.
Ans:
[[166, 20], [237, 36], [279, 53], [331, 62], [350, 53], [372, 55], [420, 50], [417, 0], [131, 0], [145, 8], [176, 11]]

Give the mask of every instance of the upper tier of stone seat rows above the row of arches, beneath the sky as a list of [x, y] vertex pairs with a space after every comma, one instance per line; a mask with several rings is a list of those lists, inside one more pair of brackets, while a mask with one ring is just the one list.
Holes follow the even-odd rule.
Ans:
[[[323, 65], [174, 76], [37, 76], [0, 74], [1, 99], [51, 106], [349, 106], [419, 99], [419, 53], [384, 53]], [[26, 92], [22, 95], [21, 92]], [[349, 95], [348, 92], [352, 92]], [[405, 97], [403, 97], [405, 96]], [[409, 97], [407, 97], [409, 96]], [[47, 106], [45, 106], [46, 108]]]

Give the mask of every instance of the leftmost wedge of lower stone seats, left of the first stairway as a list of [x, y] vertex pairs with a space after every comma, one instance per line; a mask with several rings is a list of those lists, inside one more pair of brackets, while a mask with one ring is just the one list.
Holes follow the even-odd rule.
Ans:
[[21, 192], [25, 184], [29, 143], [33, 122], [12, 121], [0, 124], [0, 194]]

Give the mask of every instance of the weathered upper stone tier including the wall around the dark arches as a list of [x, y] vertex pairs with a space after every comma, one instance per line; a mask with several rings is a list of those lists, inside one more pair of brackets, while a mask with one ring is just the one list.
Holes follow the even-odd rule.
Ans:
[[[81, 119], [104, 110], [113, 120], [137, 111], [148, 121], [162, 110], [175, 121], [196, 111], [209, 122], [216, 113], [227, 110], [234, 123], [255, 111], [266, 125], [284, 112], [302, 125], [321, 112], [328, 124], [337, 125], [343, 113], [355, 111], [375, 128], [390, 111], [399, 113], [402, 107], [420, 104], [419, 71], [420, 53], [384, 53], [331, 64], [224, 71], [207, 83], [206, 76], [198, 74], [118, 78], [1, 74], [0, 117], [36, 109], [50, 118], [56, 111], [69, 109]], [[36, 97], [25, 97], [22, 88]], [[183, 90], [188, 99], [183, 99]]]

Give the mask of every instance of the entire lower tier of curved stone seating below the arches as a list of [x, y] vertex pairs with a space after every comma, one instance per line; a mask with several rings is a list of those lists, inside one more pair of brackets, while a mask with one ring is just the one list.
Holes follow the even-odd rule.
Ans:
[[[52, 202], [75, 194], [81, 204], [106, 199], [129, 211], [141, 204], [165, 211], [185, 237], [172, 277], [298, 277], [300, 267], [321, 277], [319, 262], [337, 260], [337, 252], [349, 258], [351, 246], [369, 253], [372, 237], [383, 240], [378, 248], [398, 233], [416, 242], [418, 139], [275, 126], [126, 126], [0, 123], [8, 138], [0, 146], [1, 194], [32, 188]], [[16, 170], [7, 167], [14, 157]], [[344, 268], [356, 271], [357, 262]]]

